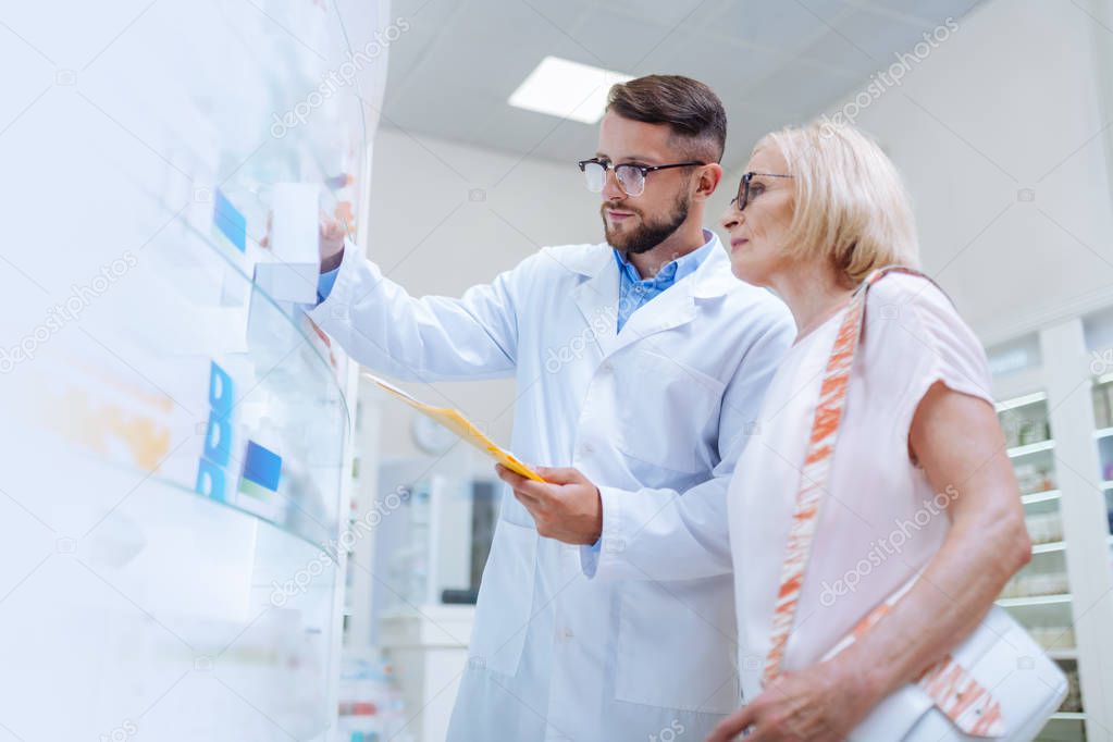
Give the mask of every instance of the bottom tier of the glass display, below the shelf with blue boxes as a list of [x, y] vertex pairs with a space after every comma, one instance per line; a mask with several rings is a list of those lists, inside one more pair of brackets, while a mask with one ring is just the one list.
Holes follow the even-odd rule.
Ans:
[[[27, 437], [28, 463], [49, 458], [43, 442]], [[31, 503], [56, 533], [0, 523], [13, 554], [53, 554], [28, 576], [17, 560], [0, 567], [0, 583], [22, 580], [0, 653], [27, 691], [2, 704], [6, 725], [42, 739], [107, 733], [125, 719], [154, 739], [269, 739], [275, 725], [323, 734], [341, 580], [327, 554], [160, 477], [88, 455], [67, 462], [40, 472], [48, 492], [98, 487]], [[67, 713], [51, 713], [62, 698]]]

